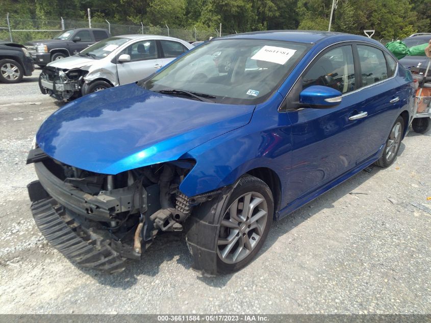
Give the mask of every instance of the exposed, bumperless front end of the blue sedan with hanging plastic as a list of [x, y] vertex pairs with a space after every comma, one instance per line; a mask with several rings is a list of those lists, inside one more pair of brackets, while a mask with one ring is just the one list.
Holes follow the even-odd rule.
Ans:
[[219, 192], [189, 198], [179, 184], [193, 160], [107, 175], [71, 167], [30, 151], [38, 181], [28, 185], [39, 230], [72, 263], [117, 272], [141, 258], [158, 232], [183, 231], [194, 206]]

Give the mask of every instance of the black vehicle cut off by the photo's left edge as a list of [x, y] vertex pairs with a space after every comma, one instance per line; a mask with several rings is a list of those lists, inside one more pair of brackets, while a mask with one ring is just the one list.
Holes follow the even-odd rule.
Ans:
[[18, 83], [34, 71], [32, 57], [26, 47], [0, 41], [0, 82]]

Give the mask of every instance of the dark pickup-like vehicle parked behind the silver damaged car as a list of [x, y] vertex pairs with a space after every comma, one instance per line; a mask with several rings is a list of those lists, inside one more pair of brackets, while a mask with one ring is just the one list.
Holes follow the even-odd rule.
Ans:
[[72, 29], [61, 32], [53, 39], [33, 40], [25, 45], [32, 54], [35, 64], [43, 67], [49, 62], [75, 55], [110, 36], [106, 29]]

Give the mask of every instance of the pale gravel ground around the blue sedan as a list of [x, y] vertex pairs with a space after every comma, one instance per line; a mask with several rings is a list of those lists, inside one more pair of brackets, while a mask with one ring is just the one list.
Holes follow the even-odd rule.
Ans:
[[30, 213], [28, 150], [61, 105], [39, 93], [38, 73], [0, 84], [0, 313], [431, 313], [431, 133], [274, 222], [234, 275], [200, 276], [184, 236], [165, 234], [107, 276], [70, 264]]

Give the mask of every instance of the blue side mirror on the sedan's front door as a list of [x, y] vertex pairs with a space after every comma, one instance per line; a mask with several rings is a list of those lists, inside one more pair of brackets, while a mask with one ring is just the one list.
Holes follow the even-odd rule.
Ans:
[[332, 87], [312, 85], [299, 93], [299, 103], [314, 109], [332, 108], [340, 104], [341, 95]]

